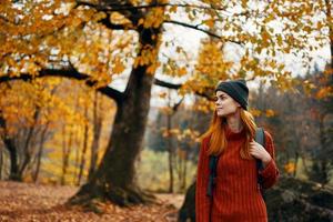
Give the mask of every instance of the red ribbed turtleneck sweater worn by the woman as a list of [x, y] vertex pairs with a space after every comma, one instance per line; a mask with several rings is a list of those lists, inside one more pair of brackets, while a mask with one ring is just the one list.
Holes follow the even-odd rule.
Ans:
[[[245, 131], [234, 133], [226, 127], [225, 135], [228, 147], [219, 159], [212, 203], [206, 195], [209, 180], [206, 150], [210, 138], [203, 139], [201, 143], [195, 193], [196, 222], [209, 222], [211, 204], [212, 222], [266, 222], [266, 205], [258, 188], [255, 160], [243, 160], [240, 155], [240, 149], [245, 142]], [[263, 176], [263, 188], [268, 189], [276, 183], [279, 169], [275, 164], [273, 140], [266, 131], [265, 149], [272, 160], [260, 174]]]

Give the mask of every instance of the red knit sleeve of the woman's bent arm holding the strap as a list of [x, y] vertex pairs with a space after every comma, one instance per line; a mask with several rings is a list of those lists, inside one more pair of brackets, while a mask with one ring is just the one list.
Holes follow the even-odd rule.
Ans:
[[275, 149], [273, 144], [273, 139], [269, 132], [265, 131], [265, 149], [271, 155], [271, 161], [266, 167], [259, 172], [263, 178], [263, 188], [269, 189], [273, 186], [279, 180], [279, 169], [275, 163]]

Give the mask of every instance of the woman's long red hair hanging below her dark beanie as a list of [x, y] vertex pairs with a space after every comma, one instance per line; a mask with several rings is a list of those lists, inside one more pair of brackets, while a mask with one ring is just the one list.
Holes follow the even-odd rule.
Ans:
[[[253, 115], [242, 108], [240, 108], [240, 117], [246, 137], [245, 143], [243, 144], [240, 154], [242, 159], [251, 160], [253, 158], [249, 152], [250, 142], [255, 137], [254, 134], [256, 124], [254, 122]], [[223, 129], [224, 124], [226, 124], [226, 119], [219, 117], [215, 110], [209, 130], [201, 137], [201, 139], [210, 137], [208, 154], [219, 155], [225, 150], [228, 141]]]

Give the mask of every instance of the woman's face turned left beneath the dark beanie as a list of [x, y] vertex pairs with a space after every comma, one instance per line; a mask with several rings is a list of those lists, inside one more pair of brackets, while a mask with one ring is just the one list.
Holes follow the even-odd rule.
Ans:
[[234, 99], [222, 91], [216, 91], [215, 108], [219, 117], [228, 117], [234, 114], [241, 107]]

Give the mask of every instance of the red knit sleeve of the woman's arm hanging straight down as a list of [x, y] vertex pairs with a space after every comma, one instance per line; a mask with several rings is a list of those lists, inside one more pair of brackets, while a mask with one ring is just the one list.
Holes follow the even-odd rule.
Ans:
[[210, 214], [210, 198], [206, 195], [209, 180], [209, 157], [206, 155], [209, 139], [202, 140], [199, 151], [199, 162], [196, 171], [196, 188], [195, 188], [195, 221], [209, 222]]

